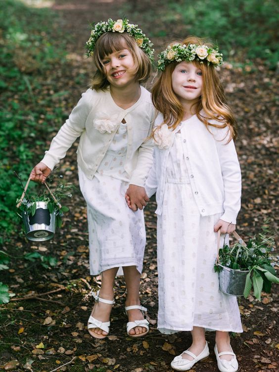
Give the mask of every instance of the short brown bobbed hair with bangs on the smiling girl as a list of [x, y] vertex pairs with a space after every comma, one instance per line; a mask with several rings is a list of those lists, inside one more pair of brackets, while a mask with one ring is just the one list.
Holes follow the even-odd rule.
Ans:
[[144, 83], [149, 78], [151, 71], [150, 59], [137, 45], [136, 40], [127, 32], [120, 34], [118, 32], [108, 31], [99, 37], [95, 45], [93, 61], [97, 70], [93, 76], [92, 89], [100, 90], [109, 86], [102, 61], [105, 56], [122, 49], [130, 50], [133, 56], [135, 62], [135, 79], [139, 83]]

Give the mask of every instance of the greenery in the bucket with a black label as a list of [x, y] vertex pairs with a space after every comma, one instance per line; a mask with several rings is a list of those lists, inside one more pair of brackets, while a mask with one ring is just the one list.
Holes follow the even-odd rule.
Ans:
[[[63, 176], [59, 177], [62, 178]], [[44, 188], [44, 191], [42, 191], [43, 187], [44, 186], [41, 187], [41, 190], [35, 196], [29, 197], [29, 195], [27, 195], [26, 193], [22, 201], [22, 204], [19, 206], [19, 209], [21, 211], [26, 211], [29, 214], [29, 216], [34, 216], [36, 213], [36, 202], [43, 201], [47, 203], [47, 209], [49, 213], [59, 211], [59, 213], [56, 214], [55, 226], [60, 228], [62, 225], [63, 213], [69, 210], [69, 208], [66, 207], [65, 205], [61, 205], [60, 201], [62, 199], [72, 197], [71, 191], [75, 186], [59, 182], [56, 188], [53, 191], [51, 191], [51, 194], [54, 196], [55, 200], [53, 196], [51, 196], [50, 191], [47, 188]], [[18, 201], [19, 199], [17, 200], [17, 202]]]

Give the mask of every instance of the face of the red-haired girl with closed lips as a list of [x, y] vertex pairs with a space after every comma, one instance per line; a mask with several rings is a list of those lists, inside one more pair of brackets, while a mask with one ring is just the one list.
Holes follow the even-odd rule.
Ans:
[[172, 73], [172, 88], [182, 104], [195, 100], [201, 95], [201, 69], [194, 63], [180, 62]]

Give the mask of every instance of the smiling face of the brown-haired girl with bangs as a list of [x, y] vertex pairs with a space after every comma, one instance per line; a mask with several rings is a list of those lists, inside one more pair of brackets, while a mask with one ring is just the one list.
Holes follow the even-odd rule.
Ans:
[[102, 63], [110, 85], [126, 88], [135, 82], [135, 62], [129, 49], [122, 49], [106, 55]]

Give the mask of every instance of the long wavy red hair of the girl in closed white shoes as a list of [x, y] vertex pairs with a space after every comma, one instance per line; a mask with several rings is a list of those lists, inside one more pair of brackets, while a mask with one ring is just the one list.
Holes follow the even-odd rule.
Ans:
[[[181, 44], [198, 44], [200, 46], [206, 44], [213, 47], [204, 39], [195, 36], [186, 38]], [[178, 63], [174, 61], [168, 64], [152, 88], [153, 105], [164, 117], [162, 124], [167, 124], [173, 130], [180, 124], [184, 115], [183, 106], [172, 88], [172, 73]], [[193, 102], [198, 119], [206, 125], [208, 130], [210, 126], [228, 127], [229, 141], [235, 139], [237, 135], [236, 120], [232, 109], [227, 104], [225, 92], [215, 67], [212, 64], [207, 65], [207, 63], [199, 63], [198, 61], [192, 63], [201, 69], [203, 80], [201, 96]], [[201, 110], [203, 114], [201, 114]], [[217, 120], [220, 125], [212, 124], [209, 122], [210, 120]]]

